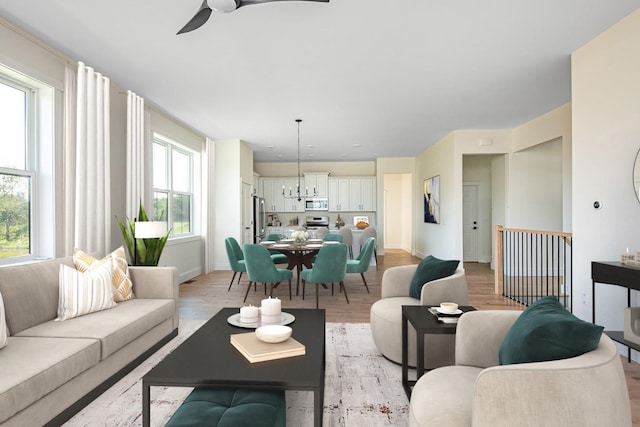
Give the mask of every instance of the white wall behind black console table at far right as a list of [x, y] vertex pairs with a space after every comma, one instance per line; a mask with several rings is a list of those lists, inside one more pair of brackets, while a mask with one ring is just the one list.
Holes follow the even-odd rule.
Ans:
[[[574, 52], [571, 67], [574, 312], [591, 320], [591, 262], [640, 249], [632, 183], [640, 147], [640, 11]], [[622, 330], [626, 290], [598, 285], [596, 298], [596, 323]]]

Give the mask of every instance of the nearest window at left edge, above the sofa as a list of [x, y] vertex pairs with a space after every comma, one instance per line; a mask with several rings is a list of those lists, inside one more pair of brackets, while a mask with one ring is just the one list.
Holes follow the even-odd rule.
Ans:
[[[0, 70], [1, 71], [1, 70]], [[32, 254], [35, 183], [34, 90], [0, 74], [0, 261]]]

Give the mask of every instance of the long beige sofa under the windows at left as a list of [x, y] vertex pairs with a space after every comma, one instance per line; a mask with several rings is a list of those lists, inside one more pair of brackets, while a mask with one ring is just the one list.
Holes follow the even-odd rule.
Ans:
[[0, 425], [59, 425], [178, 333], [178, 273], [130, 267], [135, 299], [54, 321], [71, 257], [0, 268], [9, 343], [0, 350]]

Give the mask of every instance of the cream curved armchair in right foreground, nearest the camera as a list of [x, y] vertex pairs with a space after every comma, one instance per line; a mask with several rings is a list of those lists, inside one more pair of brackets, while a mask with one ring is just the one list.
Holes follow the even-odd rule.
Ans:
[[631, 426], [622, 362], [613, 341], [581, 356], [549, 362], [498, 364], [498, 352], [521, 311], [462, 315], [456, 365], [416, 383], [410, 426]]

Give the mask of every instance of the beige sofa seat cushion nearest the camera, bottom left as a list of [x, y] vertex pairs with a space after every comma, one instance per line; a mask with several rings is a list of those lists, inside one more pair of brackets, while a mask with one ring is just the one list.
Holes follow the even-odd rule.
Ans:
[[0, 351], [0, 424], [99, 360], [97, 340], [9, 337]]

